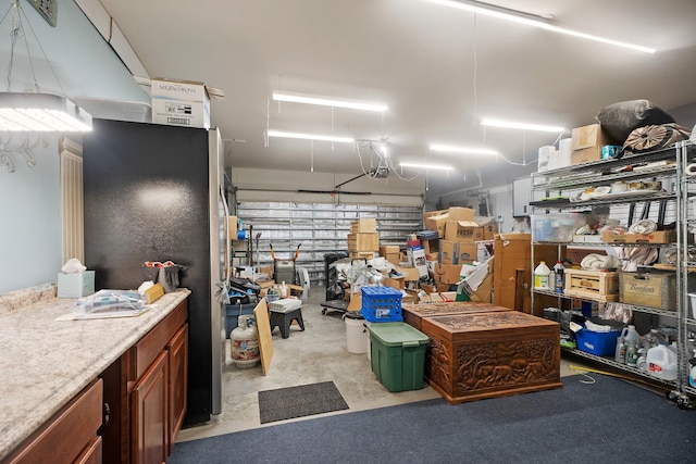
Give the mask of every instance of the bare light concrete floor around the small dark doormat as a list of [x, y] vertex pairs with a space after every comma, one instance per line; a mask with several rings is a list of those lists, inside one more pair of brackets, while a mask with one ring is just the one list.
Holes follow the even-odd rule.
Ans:
[[[283, 387], [295, 387], [333, 380], [349, 409], [331, 414], [390, 406], [439, 398], [425, 386], [420, 390], [391, 393], [372, 373], [366, 354], [347, 351], [346, 325], [341, 313], [330, 311], [322, 314], [325, 291], [321, 287], [310, 289], [310, 298], [302, 303], [304, 331], [294, 324], [290, 336], [281, 337], [277, 328], [273, 331], [273, 358], [266, 375], [261, 366], [237, 367], [231, 359], [227, 344], [227, 361], [223, 368], [223, 411], [204, 425], [184, 429], [177, 441], [194, 440], [216, 435], [247, 430], [281, 422], [261, 424], [259, 419], [258, 392]], [[561, 376], [575, 375], [569, 362], [561, 360]], [[320, 415], [284, 421], [295, 422], [315, 418]]]

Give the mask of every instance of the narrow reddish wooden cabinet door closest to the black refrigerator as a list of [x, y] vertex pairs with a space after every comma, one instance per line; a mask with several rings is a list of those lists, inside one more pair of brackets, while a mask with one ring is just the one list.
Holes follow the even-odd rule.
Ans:
[[188, 324], [184, 325], [166, 346], [169, 356], [169, 450], [172, 452], [176, 434], [182, 428], [186, 415], [188, 375]]

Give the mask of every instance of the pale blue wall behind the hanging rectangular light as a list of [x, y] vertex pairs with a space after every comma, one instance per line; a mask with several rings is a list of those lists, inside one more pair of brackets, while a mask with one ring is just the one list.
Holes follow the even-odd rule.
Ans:
[[[2, 14], [9, 3], [2, 2]], [[27, 2], [22, 1], [21, 5], [32, 26], [29, 28], [25, 23], [24, 29], [41, 91], [63, 93], [62, 86], [71, 98], [149, 102], [147, 92], [135, 83], [73, 0], [60, 2], [57, 27], [48, 25]], [[3, 81], [8, 75], [11, 24], [10, 15], [0, 25], [0, 76]], [[32, 29], [55, 70], [58, 81], [41, 52], [35, 50], [37, 40]], [[11, 90], [33, 90], [34, 78], [22, 42], [15, 48], [13, 65]], [[3, 85], [3, 90], [5, 88]], [[0, 168], [0, 292], [55, 283], [62, 265], [59, 136], [45, 135], [48, 146], [33, 150], [37, 160], [35, 167], [28, 167], [21, 155], [15, 155], [17, 168], [14, 173]], [[32, 140], [36, 138], [32, 137]]]

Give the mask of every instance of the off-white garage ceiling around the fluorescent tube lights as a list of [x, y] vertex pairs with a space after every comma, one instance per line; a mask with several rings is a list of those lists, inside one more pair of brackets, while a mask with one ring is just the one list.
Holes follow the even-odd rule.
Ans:
[[[226, 143], [234, 167], [360, 174], [352, 146], [264, 142], [266, 127], [333, 133], [386, 140], [395, 163], [430, 158], [455, 165], [455, 174], [428, 174], [427, 195], [437, 196], [477, 184], [476, 171], [494, 186], [531, 167], [431, 153], [431, 143], [487, 147], [512, 163], [529, 163], [557, 138], [484, 130], [482, 117], [572, 128], [618, 101], [649, 99], [666, 110], [696, 102], [694, 0], [495, 0], [552, 14], [559, 26], [656, 48], [655, 54], [423, 0], [101, 2], [151, 77], [200, 80], [225, 91], [224, 101], [211, 103], [211, 118], [225, 139], [237, 140]], [[270, 102], [273, 90], [382, 101], [389, 110], [382, 116], [278, 105]], [[363, 164], [370, 162], [368, 154]], [[414, 186], [422, 189], [422, 183]]]

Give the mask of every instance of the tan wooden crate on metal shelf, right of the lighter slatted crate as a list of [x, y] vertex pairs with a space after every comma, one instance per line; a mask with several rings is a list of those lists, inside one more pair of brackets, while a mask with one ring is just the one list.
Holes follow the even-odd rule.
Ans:
[[673, 273], [621, 273], [619, 283], [622, 303], [676, 311], [676, 276]]

